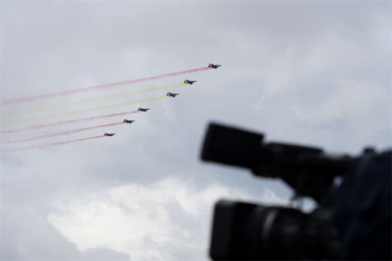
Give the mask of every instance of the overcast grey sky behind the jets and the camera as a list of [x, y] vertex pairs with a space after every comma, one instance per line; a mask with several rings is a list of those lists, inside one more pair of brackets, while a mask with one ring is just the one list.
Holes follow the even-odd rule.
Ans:
[[[1, 134], [1, 260], [209, 260], [217, 200], [293, 195], [278, 179], [202, 162], [211, 121], [327, 153], [391, 147], [390, 1], [0, 4], [1, 101], [222, 65], [1, 105], [2, 132], [150, 108]], [[75, 104], [185, 79], [197, 82]], [[138, 102], [167, 92], [180, 95]], [[136, 121], [16, 142], [123, 119]], [[116, 135], [12, 150], [104, 132]]]

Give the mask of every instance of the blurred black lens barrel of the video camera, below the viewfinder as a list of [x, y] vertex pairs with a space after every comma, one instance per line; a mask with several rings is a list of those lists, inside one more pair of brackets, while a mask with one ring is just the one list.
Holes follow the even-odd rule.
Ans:
[[328, 209], [311, 214], [221, 200], [215, 206], [213, 260], [334, 260], [340, 241]]

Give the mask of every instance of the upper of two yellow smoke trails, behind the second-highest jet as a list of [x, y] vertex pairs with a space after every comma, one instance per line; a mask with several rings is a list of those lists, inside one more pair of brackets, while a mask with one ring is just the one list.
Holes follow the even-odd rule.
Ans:
[[140, 90], [140, 91], [134, 91], [134, 92], [126, 92], [126, 93], [115, 94], [115, 95], [106, 95], [106, 96], [101, 96], [101, 97], [96, 97], [96, 98], [82, 99], [82, 100], [71, 101], [71, 102], [67, 102], [67, 103], [54, 104], [54, 105], [41, 107], [41, 108], [36, 108], [36, 109], [32, 109], [32, 110], [25, 110], [25, 111], [21, 111], [21, 112], [2, 114], [1, 118], [9, 117], [9, 116], [22, 115], [22, 114], [25, 114], [25, 113], [41, 112], [41, 111], [51, 110], [51, 109], [55, 109], [55, 108], [68, 107], [68, 106], [71, 106], [71, 105], [79, 105], [79, 104], [95, 102], [95, 101], [100, 101], [100, 100], [105, 100], [105, 99], [118, 98], [118, 97], [123, 97], [123, 96], [127, 96], [127, 95], [142, 94], [142, 93], [147, 93], [147, 92], [151, 92], [151, 91], [155, 91], [155, 90], [161, 90], [161, 89], [166, 89], [166, 88], [177, 87], [177, 86], [181, 86], [181, 85], [187, 85], [187, 83], [176, 83], [176, 84], [162, 86], [162, 87], [149, 88], [149, 89], [146, 89], [146, 90]]

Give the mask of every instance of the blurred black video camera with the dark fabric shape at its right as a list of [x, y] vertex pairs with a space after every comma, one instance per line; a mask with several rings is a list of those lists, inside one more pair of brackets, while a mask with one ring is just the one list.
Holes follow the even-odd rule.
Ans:
[[[263, 137], [211, 123], [201, 158], [281, 178], [296, 196], [310, 196], [319, 206], [306, 214], [219, 201], [213, 260], [391, 260], [391, 151], [337, 157], [319, 148], [263, 143]], [[342, 177], [340, 186], [336, 177]]]

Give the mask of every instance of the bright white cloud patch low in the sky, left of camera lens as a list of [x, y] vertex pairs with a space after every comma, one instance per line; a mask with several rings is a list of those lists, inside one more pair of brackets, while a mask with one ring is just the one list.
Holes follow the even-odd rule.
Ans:
[[[222, 197], [252, 198], [217, 184], [198, 189], [192, 181], [164, 178], [55, 202], [48, 219], [81, 251], [105, 247], [136, 260], [207, 259], [212, 207]], [[268, 189], [260, 198], [286, 202]]]

